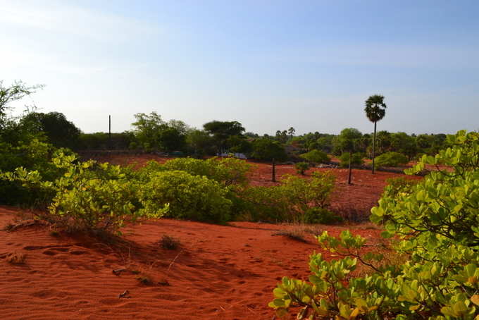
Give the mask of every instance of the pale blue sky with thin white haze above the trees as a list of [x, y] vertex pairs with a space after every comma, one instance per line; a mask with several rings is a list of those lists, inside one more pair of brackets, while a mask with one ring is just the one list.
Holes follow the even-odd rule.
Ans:
[[[273, 134], [479, 129], [479, 1], [5, 1], [0, 79], [84, 132], [139, 112]], [[15, 112], [23, 109], [22, 101]]]

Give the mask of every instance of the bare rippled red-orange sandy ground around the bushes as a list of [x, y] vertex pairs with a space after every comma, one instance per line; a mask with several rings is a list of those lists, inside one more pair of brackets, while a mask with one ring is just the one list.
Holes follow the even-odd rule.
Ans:
[[[253, 183], [270, 185], [270, 168], [258, 166]], [[278, 166], [278, 176], [293, 172], [292, 166]], [[399, 176], [355, 170], [349, 186], [346, 171], [334, 172], [334, 205], [362, 209], [377, 201], [386, 178]], [[266, 223], [144, 221], [125, 227], [125, 242], [116, 244], [54, 235], [42, 225], [4, 231], [22, 214], [0, 207], [1, 319], [273, 319], [267, 304], [275, 284], [282, 276], [306, 279], [309, 254], [321, 252], [312, 235], [307, 235], [308, 243], [274, 235], [297, 226]], [[318, 228], [332, 235], [352, 228], [370, 242], [380, 233], [368, 224]], [[178, 239], [180, 248], [163, 249], [158, 245], [163, 235]], [[25, 254], [24, 264], [9, 263], [12, 253]], [[151, 283], [140, 283], [139, 276]], [[125, 290], [129, 294], [119, 297]]]

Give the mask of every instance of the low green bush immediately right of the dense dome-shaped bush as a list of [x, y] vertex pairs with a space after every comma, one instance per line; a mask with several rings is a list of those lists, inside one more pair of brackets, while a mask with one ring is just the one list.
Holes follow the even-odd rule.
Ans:
[[249, 187], [242, 192], [244, 214], [252, 220], [307, 222], [311, 208], [327, 208], [335, 184], [332, 173], [313, 173], [311, 178], [283, 176], [281, 185]]

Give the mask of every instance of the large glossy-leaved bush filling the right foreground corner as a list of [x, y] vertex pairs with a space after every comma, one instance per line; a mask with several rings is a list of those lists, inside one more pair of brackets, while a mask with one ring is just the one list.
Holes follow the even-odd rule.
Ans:
[[[343, 259], [313, 254], [309, 281], [282, 278], [270, 307], [282, 316], [300, 307], [297, 319], [478, 319], [479, 314], [479, 133], [460, 131], [453, 147], [423, 156], [425, 164], [447, 164], [454, 172], [433, 171], [410, 190], [386, 187], [371, 221], [408, 257], [385, 264], [382, 254], [363, 250], [366, 239], [343, 231], [318, 241]], [[356, 264], [371, 273], [355, 278]]]

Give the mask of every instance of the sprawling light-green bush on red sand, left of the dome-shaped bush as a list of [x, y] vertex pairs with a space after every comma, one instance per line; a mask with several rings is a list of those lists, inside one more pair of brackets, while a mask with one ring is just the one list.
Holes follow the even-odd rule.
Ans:
[[43, 180], [39, 171], [21, 167], [3, 173], [0, 178], [22, 183], [30, 190], [53, 193], [50, 213], [62, 217], [70, 226], [73, 223], [75, 228], [118, 230], [125, 219], [159, 217], [168, 209], [166, 206], [155, 211], [139, 209], [138, 183], [129, 179], [120, 166], [77, 162], [74, 155], [63, 154], [52, 161], [64, 172], [54, 181]]

